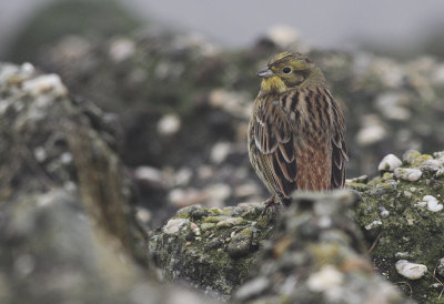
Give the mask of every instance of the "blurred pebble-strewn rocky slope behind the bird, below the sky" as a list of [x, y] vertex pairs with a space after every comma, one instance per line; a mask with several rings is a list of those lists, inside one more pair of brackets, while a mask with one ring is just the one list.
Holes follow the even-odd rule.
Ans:
[[71, 93], [118, 113], [112, 124], [122, 126], [120, 154], [139, 184], [151, 227], [194, 203], [221, 207], [265, 199], [245, 158], [245, 132], [259, 91], [255, 73], [282, 50], [314, 60], [344, 108], [350, 178], [376, 174], [389, 153], [444, 146], [444, 63], [431, 55], [401, 62], [320, 51], [276, 31], [248, 49], [224, 50], [155, 27], [113, 37], [73, 31], [44, 42], [20, 58], [60, 74]]

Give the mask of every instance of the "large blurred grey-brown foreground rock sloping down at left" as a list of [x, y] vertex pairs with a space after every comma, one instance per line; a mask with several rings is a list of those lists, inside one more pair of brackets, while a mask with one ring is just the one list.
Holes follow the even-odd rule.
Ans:
[[143, 274], [104, 116], [58, 75], [0, 63], [1, 303], [208, 303]]

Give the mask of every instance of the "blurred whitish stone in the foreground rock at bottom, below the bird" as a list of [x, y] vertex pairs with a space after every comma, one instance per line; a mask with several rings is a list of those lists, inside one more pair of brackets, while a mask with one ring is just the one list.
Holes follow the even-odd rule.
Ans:
[[325, 292], [344, 282], [344, 274], [333, 265], [324, 265], [319, 272], [310, 275], [306, 285], [313, 292]]

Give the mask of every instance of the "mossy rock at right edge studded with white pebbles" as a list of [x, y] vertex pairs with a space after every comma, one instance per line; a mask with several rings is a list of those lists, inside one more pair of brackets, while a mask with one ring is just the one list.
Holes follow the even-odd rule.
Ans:
[[361, 194], [355, 217], [374, 264], [421, 303], [442, 303], [444, 277], [435, 268], [444, 244], [443, 168], [443, 152], [428, 155], [412, 150], [394, 173], [349, 183]]

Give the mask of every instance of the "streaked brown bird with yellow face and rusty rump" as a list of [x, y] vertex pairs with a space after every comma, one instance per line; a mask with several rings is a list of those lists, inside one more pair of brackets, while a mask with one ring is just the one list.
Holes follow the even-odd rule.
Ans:
[[261, 89], [248, 131], [250, 162], [270, 206], [289, 206], [295, 191], [344, 188], [345, 120], [321, 69], [299, 52], [282, 52], [258, 72]]

